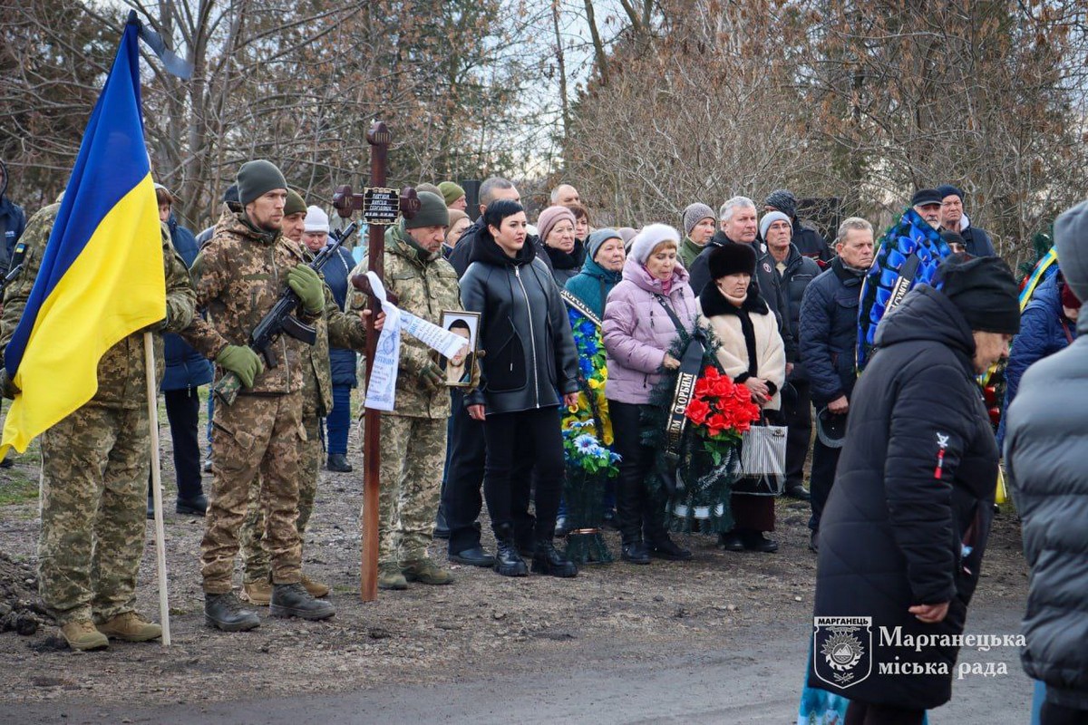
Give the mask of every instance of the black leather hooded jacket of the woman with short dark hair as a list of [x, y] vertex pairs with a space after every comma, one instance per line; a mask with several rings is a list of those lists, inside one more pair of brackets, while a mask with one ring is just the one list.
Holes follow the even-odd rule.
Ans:
[[461, 277], [461, 307], [481, 313], [480, 347], [486, 351], [480, 387], [466, 396], [466, 405], [514, 413], [558, 405], [560, 395], [578, 391], [567, 308], [530, 240], [511, 258], [481, 232]]

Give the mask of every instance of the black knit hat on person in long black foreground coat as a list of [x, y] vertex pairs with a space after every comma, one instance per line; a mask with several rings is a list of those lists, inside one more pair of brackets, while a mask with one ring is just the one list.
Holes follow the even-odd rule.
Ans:
[[953, 254], [941, 262], [934, 280], [973, 330], [1019, 332], [1019, 288], [1000, 257]]

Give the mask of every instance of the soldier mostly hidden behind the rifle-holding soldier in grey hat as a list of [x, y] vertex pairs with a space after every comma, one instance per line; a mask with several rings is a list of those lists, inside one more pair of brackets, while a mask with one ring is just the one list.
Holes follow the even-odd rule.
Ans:
[[[305, 218], [306, 202], [298, 193], [288, 190], [287, 203], [284, 207], [284, 236], [298, 242], [302, 254], [310, 261], [320, 250], [311, 250], [302, 245]], [[358, 327], [355, 325], [356, 317], [344, 314], [327, 286], [324, 292], [325, 311], [316, 325], [318, 341], [307, 350], [309, 359], [302, 365], [302, 427], [306, 429], [306, 440], [302, 442], [299, 464], [301, 478], [298, 484], [296, 522], [299, 537], [306, 534], [306, 525], [313, 512], [313, 499], [321, 475], [321, 418], [327, 415], [333, 407], [329, 340], [332, 338], [338, 347], [355, 348], [359, 351], [364, 351], [366, 347], [366, 337], [358, 334]], [[261, 540], [264, 538], [264, 516], [261, 513], [259, 490], [260, 480], [255, 479], [250, 487], [249, 512], [246, 514], [240, 534], [245, 571], [242, 596], [254, 604], [268, 607], [272, 599], [272, 587], [269, 584], [269, 557], [261, 547]], [[302, 586], [314, 597], [320, 598], [329, 593], [327, 586], [305, 574]]]

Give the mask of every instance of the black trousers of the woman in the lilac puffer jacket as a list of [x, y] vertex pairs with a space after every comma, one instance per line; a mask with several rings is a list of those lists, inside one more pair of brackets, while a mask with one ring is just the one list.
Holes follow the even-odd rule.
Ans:
[[608, 401], [616, 452], [620, 454], [616, 482], [616, 520], [623, 543], [658, 543], [665, 532], [664, 491], [651, 492], [646, 476], [654, 465], [654, 449], [642, 445], [640, 413], [643, 405]]

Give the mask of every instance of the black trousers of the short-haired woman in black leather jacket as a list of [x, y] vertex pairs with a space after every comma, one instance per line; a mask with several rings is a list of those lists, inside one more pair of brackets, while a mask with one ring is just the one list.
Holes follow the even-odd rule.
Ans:
[[536, 522], [532, 540], [551, 541], [567, 467], [562, 454], [559, 408], [537, 408], [517, 413], [490, 413], [483, 423], [486, 463], [483, 492], [487, 499], [492, 530], [496, 538], [516, 534], [520, 493], [535, 474], [533, 508]]

